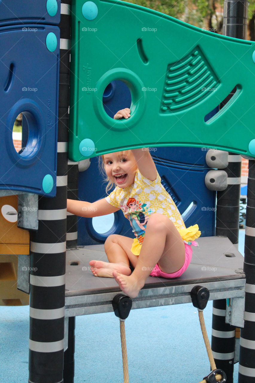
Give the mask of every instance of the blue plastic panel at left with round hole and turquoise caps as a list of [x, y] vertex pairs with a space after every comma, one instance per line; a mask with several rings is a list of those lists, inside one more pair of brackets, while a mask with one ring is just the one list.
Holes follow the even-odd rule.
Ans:
[[[56, 41], [53, 52], [46, 47], [47, 36], [53, 45]], [[44, 195], [44, 187], [47, 196], [56, 194], [59, 41], [56, 26], [0, 28], [0, 46], [5, 52], [0, 60], [0, 189]], [[21, 112], [29, 135], [18, 154], [12, 130]]]

